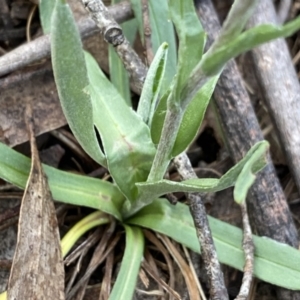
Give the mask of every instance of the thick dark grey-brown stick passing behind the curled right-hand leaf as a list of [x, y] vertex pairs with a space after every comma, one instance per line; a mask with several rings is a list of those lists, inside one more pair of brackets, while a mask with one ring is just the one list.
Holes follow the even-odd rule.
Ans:
[[[202, 25], [208, 33], [208, 44], [211, 44], [220, 29], [217, 14], [211, 0], [197, 0], [196, 4]], [[214, 92], [214, 105], [228, 150], [237, 162], [251, 146], [263, 139], [263, 135], [234, 61], [227, 64], [220, 77]], [[247, 204], [254, 232], [298, 247], [298, 232], [270, 158], [267, 167], [257, 174]], [[278, 288], [278, 291], [281, 293], [283, 289]], [[290, 292], [289, 296], [280, 299], [298, 297], [297, 292]]]

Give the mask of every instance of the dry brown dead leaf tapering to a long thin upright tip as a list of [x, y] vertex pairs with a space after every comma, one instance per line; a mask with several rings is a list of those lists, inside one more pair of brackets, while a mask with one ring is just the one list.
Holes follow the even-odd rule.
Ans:
[[64, 267], [54, 204], [35, 144], [31, 110], [25, 115], [32, 152], [8, 299], [65, 299]]

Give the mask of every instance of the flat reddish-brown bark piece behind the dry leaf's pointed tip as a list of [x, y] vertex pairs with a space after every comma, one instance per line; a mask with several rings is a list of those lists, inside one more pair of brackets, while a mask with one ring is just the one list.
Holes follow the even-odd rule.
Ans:
[[66, 124], [49, 64], [0, 80], [0, 89], [0, 142], [15, 146], [28, 140], [24, 123], [26, 101], [33, 107], [37, 134]]

